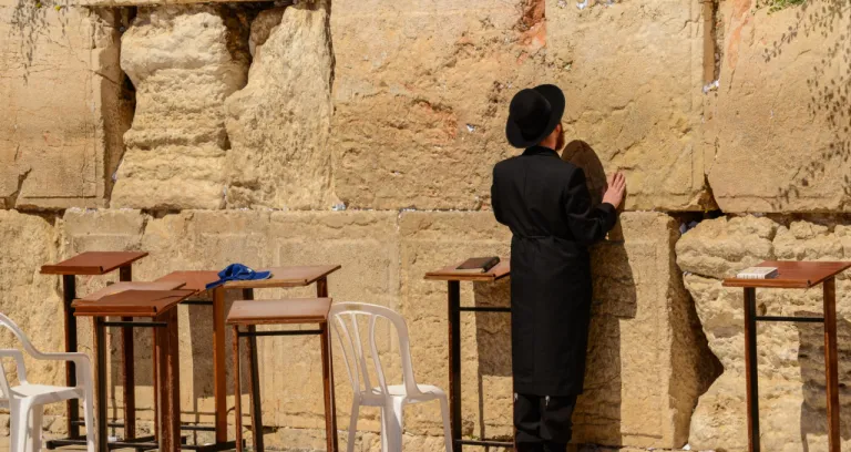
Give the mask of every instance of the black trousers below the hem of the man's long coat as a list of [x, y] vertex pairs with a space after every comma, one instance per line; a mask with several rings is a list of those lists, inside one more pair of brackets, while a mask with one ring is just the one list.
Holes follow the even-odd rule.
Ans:
[[564, 452], [573, 434], [576, 396], [514, 394], [517, 452]]

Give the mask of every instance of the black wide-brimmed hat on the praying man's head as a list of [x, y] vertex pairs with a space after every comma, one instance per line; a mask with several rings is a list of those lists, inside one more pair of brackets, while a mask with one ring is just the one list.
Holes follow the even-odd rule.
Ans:
[[514, 147], [541, 143], [564, 114], [564, 93], [552, 84], [525, 89], [514, 95], [509, 107], [505, 136]]

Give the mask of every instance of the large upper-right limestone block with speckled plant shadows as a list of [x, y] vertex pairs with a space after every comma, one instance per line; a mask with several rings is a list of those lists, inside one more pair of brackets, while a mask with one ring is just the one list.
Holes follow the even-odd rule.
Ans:
[[847, 2], [769, 13], [720, 2], [720, 86], [707, 109], [707, 168], [725, 212], [849, 210]]

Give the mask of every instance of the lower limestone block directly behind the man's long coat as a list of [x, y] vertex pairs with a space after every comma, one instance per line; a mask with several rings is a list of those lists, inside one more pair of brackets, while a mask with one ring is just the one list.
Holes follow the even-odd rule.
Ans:
[[[418, 327], [411, 329], [416, 371], [423, 382], [445, 389], [447, 285], [423, 275], [475, 255], [507, 258], [510, 232], [488, 213], [404, 213], [400, 227], [401, 311]], [[587, 386], [574, 415], [574, 438], [681, 446], [714, 363], [675, 265], [676, 224], [663, 214], [625, 214], [622, 229], [623, 242], [601, 244], [593, 254]], [[507, 306], [509, 284], [463, 284], [461, 304]], [[510, 319], [462, 314], [461, 338], [463, 434], [511, 438]], [[435, 407], [408, 415], [412, 434], [439, 432]]]

